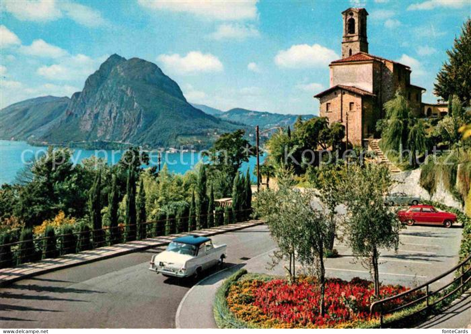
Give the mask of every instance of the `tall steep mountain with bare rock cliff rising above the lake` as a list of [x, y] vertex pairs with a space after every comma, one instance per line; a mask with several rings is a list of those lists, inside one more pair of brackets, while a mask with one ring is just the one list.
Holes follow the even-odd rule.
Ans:
[[49, 142], [117, 141], [150, 147], [230, 131], [236, 126], [187, 103], [178, 84], [155, 64], [113, 55], [72, 96]]

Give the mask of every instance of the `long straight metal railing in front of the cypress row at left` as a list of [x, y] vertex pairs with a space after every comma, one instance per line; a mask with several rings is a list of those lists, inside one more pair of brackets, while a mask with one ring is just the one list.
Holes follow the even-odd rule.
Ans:
[[[39, 237], [0, 245], [0, 268], [15, 267], [25, 262], [54, 258], [59, 255], [78, 253], [84, 250], [111, 246], [114, 244], [156, 238], [170, 234], [189, 233], [197, 229], [218, 227], [230, 223], [243, 222], [249, 218], [252, 209], [233, 210], [229, 216], [224, 211], [212, 214], [171, 217], [146, 223], [118, 225], [98, 230], [75, 231], [55, 235], [54, 249], [47, 251], [50, 237]], [[208, 218], [213, 217], [213, 225], [208, 226]], [[190, 220], [191, 219], [191, 220]], [[198, 221], [202, 220], [203, 223]], [[191, 223], [191, 225], [190, 225]], [[53, 243], [54, 244], [54, 243]], [[24, 246], [23, 246], [24, 245]], [[8, 255], [9, 254], [9, 255]], [[9, 256], [9, 258], [6, 258]]]

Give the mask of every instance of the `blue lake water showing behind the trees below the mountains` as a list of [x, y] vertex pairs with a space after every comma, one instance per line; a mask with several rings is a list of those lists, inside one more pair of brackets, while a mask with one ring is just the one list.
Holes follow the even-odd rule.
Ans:
[[[82, 159], [95, 155], [99, 158], [106, 158], [106, 161], [111, 165], [117, 163], [124, 152], [122, 150], [82, 150], [78, 148], [73, 150], [74, 163], [80, 163]], [[46, 151], [47, 147], [31, 146], [26, 142], [0, 140], [0, 184], [14, 183], [16, 173], [24, 168], [31, 159], [41, 156]], [[260, 156], [260, 164], [264, 158]], [[158, 164], [157, 153], [151, 153], [150, 159], [150, 166]], [[162, 167], [165, 162], [171, 172], [184, 174], [192, 169], [200, 159], [202, 158], [199, 152], [162, 153]], [[256, 180], [252, 173], [256, 163], [256, 158], [251, 157], [249, 162], [242, 165], [243, 171], [246, 171], [247, 167], [250, 168], [253, 181]]]

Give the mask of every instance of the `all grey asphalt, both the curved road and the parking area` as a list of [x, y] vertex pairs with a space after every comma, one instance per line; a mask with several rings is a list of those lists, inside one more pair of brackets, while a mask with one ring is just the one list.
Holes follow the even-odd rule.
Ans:
[[[427, 280], [455, 265], [461, 229], [413, 226], [401, 232], [399, 253], [385, 253], [380, 278], [408, 286]], [[249, 262], [263, 270], [275, 248], [264, 225], [214, 237], [227, 243], [227, 265]], [[328, 276], [368, 278], [349, 249], [329, 259]], [[194, 282], [163, 278], [147, 270], [148, 250], [59, 270], [0, 289], [3, 328], [171, 328], [179, 302]], [[247, 261], [249, 260], [249, 261]], [[252, 268], [252, 266], [255, 267]], [[283, 273], [280, 266], [275, 273]], [[196, 320], [195, 320], [196, 321]]]

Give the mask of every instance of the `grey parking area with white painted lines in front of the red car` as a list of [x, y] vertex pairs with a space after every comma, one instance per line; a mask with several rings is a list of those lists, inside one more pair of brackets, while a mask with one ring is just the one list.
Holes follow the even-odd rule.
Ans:
[[[384, 284], [417, 286], [438, 276], [458, 263], [458, 251], [462, 236], [461, 228], [443, 228], [437, 226], [407, 226], [400, 232], [398, 252], [381, 251], [380, 280]], [[326, 259], [325, 268], [328, 277], [349, 280], [353, 277], [371, 279], [368, 269], [353, 256], [345, 243], [336, 242], [334, 246], [339, 257]], [[248, 261], [247, 270], [259, 271], [270, 262], [269, 254]], [[302, 270], [302, 268], [299, 268]], [[268, 273], [285, 275], [282, 264]], [[443, 278], [437, 282], [442, 285], [452, 278]]]

